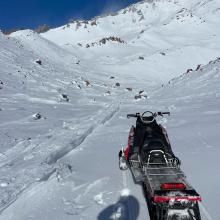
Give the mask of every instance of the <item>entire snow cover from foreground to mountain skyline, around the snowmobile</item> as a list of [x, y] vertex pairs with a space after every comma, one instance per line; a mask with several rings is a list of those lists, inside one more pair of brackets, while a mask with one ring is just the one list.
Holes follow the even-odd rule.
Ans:
[[152, 0], [0, 33], [0, 220], [149, 219], [118, 169], [126, 114], [146, 110], [171, 112], [160, 122], [202, 219], [220, 219], [219, 25], [218, 0]]

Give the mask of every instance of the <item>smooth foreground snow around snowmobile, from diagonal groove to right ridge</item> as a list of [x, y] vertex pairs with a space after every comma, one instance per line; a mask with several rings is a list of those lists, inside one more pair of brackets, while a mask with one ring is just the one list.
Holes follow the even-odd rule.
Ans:
[[[185, 74], [152, 93], [150, 110], [170, 110], [161, 123], [189, 181], [203, 197], [202, 219], [218, 219], [218, 128], [220, 61]], [[176, 95], [174, 95], [176, 94]], [[124, 100], [115, 112], [87, 136], [79, 148], [56, 164], [54, 173], [26, 190], [0, 219], [117, 219], [133, 215], [148, 219], [141, 187], [129, 171], [118, 170], [117, 153], [126, 143], [128, 112], [146, 110], [145, 99]], [[23, 211], [25, 209], [25, 212]], [[121, 211], [120, 211], [121, 210]], [[127, 217], [126, 217], [127, 216]], [[123, 219], [123, 218], [122, 218]]]

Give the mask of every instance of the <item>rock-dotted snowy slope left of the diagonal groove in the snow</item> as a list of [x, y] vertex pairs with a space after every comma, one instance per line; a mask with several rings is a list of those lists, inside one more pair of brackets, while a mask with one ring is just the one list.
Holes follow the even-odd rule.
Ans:
[[124, 89], [77, 62], [33, 31], [0, 33], [0, 210], [117, 111]]

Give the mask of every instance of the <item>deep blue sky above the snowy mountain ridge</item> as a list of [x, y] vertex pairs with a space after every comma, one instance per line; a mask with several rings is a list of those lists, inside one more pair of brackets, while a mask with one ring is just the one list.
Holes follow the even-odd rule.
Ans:
[[89, 19], [140, 0], [0, 0], [0, 29], [60, 26], [70, 18]]

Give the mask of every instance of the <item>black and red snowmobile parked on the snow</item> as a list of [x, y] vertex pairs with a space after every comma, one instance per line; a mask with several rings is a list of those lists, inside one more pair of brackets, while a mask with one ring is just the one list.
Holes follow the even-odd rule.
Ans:
[[136, 126], [119, 152], [119, 168], [129, 168], [135, 183], [143, 186], [151, 220], [201, 220], [201, 197], [187, 182], [165, 128], [156, 121], [164, 115], [170, 112], [127, 115], [136, 118]]

